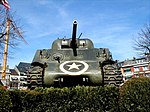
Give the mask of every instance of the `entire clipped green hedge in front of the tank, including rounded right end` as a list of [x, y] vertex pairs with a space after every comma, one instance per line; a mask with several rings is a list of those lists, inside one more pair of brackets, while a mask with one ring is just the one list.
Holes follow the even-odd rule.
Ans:
[[149, 112], [150, 79], [131, 79], [119, 88], [0, 88], [0, 98], [2, 112]]

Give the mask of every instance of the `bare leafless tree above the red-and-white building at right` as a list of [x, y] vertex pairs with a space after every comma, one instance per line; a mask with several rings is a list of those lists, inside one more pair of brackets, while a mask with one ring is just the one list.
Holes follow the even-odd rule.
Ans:
[[138, 33], [133, 48], [140, 56], [150, 55], [150, 24], [145, 25]]

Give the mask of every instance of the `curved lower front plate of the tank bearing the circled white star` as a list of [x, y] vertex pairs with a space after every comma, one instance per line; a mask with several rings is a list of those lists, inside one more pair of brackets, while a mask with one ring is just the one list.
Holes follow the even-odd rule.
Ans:
[[[44, 84], [51, 85], [54, 80], [63, 77], [76, 77], [82, 76], [87, 77], [92, 83], [102, 83], [102, 73], [97, 62], [84, 62], [78, 60], [65, 61], [59, 66], [54, 64], [53, 68], [55, 71], [49, 71], [49, 68], [45, 69]], [[58, 67], [58, 68], [57, 68]]]

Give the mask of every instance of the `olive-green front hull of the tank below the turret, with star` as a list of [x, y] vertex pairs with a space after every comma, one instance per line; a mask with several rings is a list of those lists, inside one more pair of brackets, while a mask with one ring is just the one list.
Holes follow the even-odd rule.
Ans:
[[[82, 49], [77, 50], [78, 56], [74, 57], [72, 50], [43, 50], [47, 54], [40, 54], [37, 51], [33, 60], [34, 63], [46, 64], [43, 73], [43, 82], [45, 86], [53, 86], [55, 82], [63, 83], [68, 77], [82, 77], [91, 84], [100, 85], [102, 83], [102, 70], [100, 67], [100, 59], [97, 57], [99, 49]], [[41, 57], [41, 58], [39, 58]], [[60, 57], [59, 61], [56, 57]], [[84, 59], [84, 60], [83, 60]], [[68, 78], [68, 80], [70, 79]]]

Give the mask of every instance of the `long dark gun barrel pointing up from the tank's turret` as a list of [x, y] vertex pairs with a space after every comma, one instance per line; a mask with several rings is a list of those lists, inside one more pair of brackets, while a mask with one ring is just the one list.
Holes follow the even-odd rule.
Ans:
[[73, 31], [72, 31], [72, 41], [71, 41], [71, 47], [73, 49], [74, 56], [77, 56], [76, 33], [77, 33], [77, 21], [74, 21], [73, 22]]

